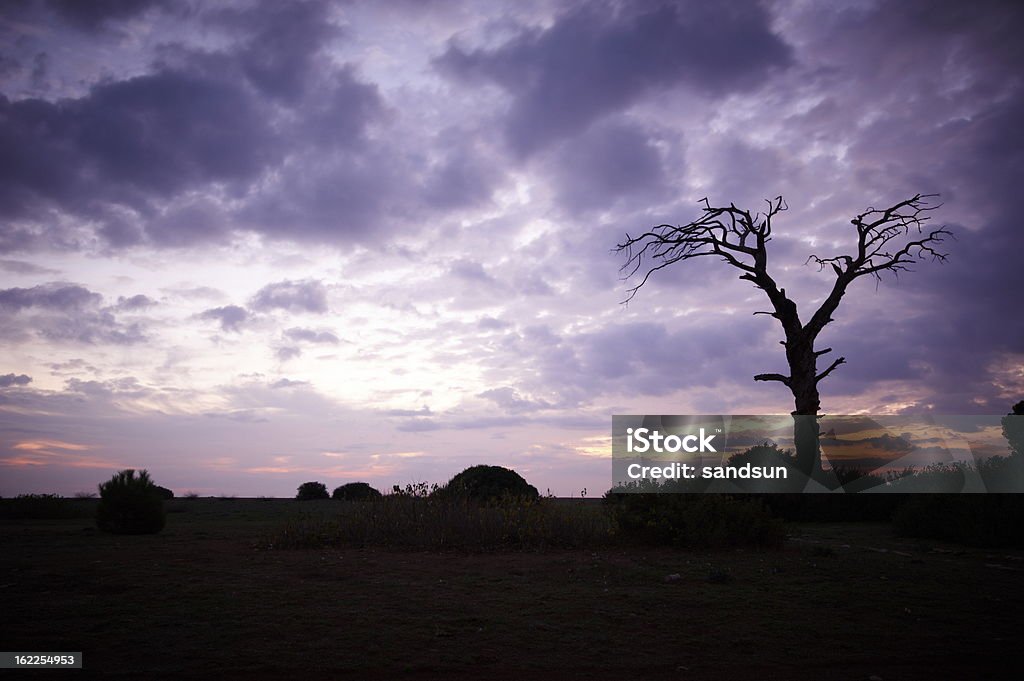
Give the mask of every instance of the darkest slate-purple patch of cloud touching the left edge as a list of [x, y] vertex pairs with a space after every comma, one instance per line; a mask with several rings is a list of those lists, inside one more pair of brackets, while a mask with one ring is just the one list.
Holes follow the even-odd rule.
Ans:
[[239, 85], [174, 71], [78, 99], [0, 95], [0, 214], [31, 221], [55, 207], [105, 223], [120, 206], [159, 216], [159, 201], [188, 188], [251, 179], [273, 156], [258, 109]]

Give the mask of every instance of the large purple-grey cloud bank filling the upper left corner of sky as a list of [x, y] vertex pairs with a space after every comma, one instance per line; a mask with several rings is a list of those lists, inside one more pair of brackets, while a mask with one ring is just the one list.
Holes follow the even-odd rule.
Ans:
[[[91, 26], [128, 13], [82, 12]], [[0, 94], [0, 252], [87, 248], [61, 214], [116, 249], [191, 247], [237, 229], [372, 233], [388, 206], [382, 188], [413, 180], [367, 145], [384, 112], [376, 86], [321, 54], [340, 35], [329, 13], [319, 2], [210, 11], [209, 26], [241, 39], [220, 51], [164, 44], [150, 73], [77, 97]], [[300, 152], [303, 163], [288, 163]], [[275, 181], [253, 190], [270, 171]]]

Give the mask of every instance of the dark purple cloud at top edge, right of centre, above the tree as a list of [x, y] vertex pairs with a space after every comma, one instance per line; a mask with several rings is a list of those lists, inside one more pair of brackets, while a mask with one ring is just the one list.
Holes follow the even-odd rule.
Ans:
[[452, 44], [435, 63], [512, 96], [506, 133], [528, 155], [623, 111], [652, 90], [685, 84], [721, 95], [754, 86], [792, 60], [759, 4], [587, 3], [548, 29], [494, 50]]

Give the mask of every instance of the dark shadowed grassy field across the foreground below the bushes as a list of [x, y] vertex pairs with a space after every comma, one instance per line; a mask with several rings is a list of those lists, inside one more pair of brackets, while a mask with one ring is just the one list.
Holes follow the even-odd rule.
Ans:
[[139, 537], [0, 521], [0, 649], [81, 650], [125, 679], [1024, 673], [1019, 551], [869, 523], [791, 524], [764, 551], [267, 549], [286, 516], [332, 503], [175, 499]]

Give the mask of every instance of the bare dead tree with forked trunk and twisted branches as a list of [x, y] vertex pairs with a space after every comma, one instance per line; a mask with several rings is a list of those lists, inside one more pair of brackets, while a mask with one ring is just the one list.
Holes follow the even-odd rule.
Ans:
[[692, 222], [681, 226], [659, 224], [638, 237], [627, 233], [626, 241], [615, 249], [627, 256], [622, 268], [626, 272], [624, 279], [640, 271], [644, 273], [640, 283], [629, 289], [624, 302], [632, 300], [657, 270], [708, 255], [718, 256], [740, 270], [739, 279], [764, 291], [772, 309], [754, 313], [773, 316], [782, 326], [785, 340], [780, 342], [785, 346], [790, 374], [758, 374], [754, 380], [778, 381], [793, 392], [797, 461], [801, 470], [813, 475], [821, 467], [818, 383], [846, 363], [845, 357], [838, 357], [819, 372], [818, 357], [831, 352], [831, 348], [816, 350], [814, 343], [821, 330], [833, 322], [833, 314], [854, 281], [862, 276], [881, 281], [886, 271], [899, 275], [901, 271], [908, 271], [914, 262], [928, 258], [946, 259], [946, 254], [936, 249], [951, 236], [949, 230], [925, 229], [931, 217], [929, 213], [941, 206], [929, 204], [936, 196], [918, 194], [890, 208], [868, 208], [854, 217], [851, 223], [857, 231], [857, 247], [853, 255], [820, 257], [812, 254], [807, 262], [817, 264], [819, 270], [828, 267], [836, 279], [828, 296], [807, 322], [801, 320], [797, 303], [786, 296], [785, 289], [779, 288], [768, 273], [767, 246], [771, 241], [772, 219], [788, 208], [782, 197], [766, 201], [767, 210], [754, 215], [734, 204], [713, 207], [703, 199], [703, 213]]

